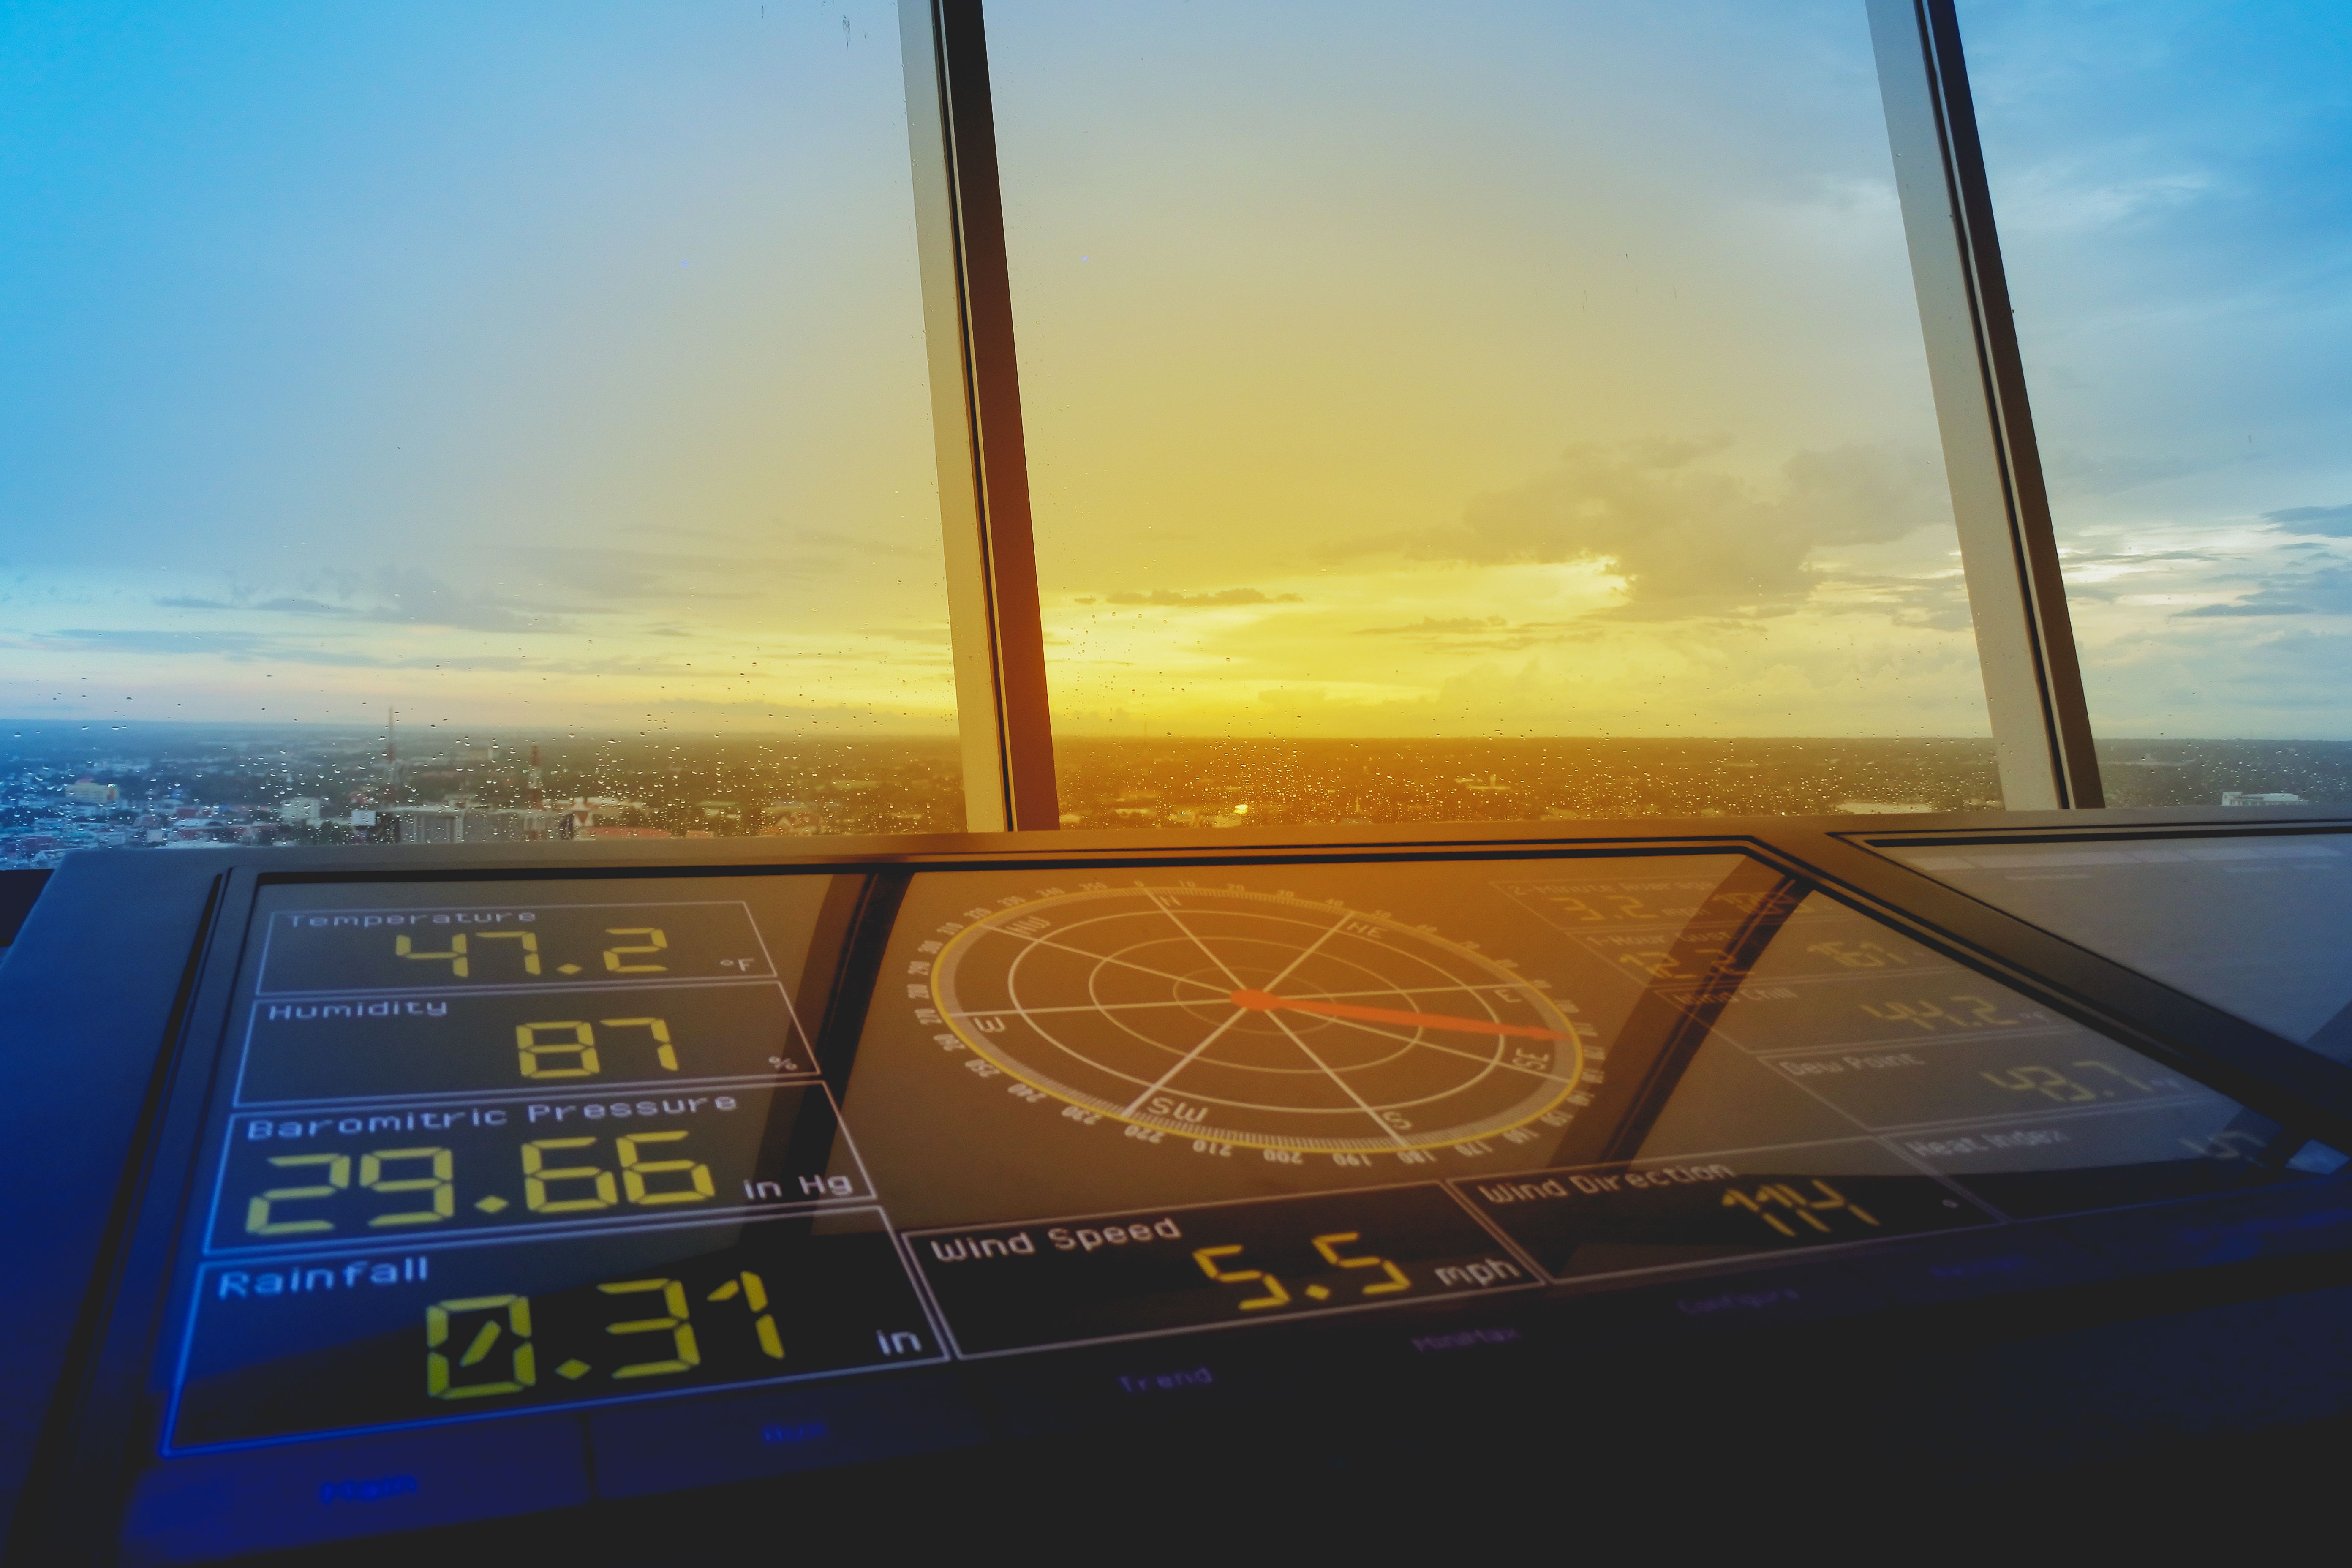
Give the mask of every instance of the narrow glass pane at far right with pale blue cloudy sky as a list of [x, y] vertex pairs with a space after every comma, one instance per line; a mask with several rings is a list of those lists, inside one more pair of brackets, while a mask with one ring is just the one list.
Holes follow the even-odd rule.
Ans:
[[1959, 16], [2107, 799], [2352, 799], [2352, 12]]

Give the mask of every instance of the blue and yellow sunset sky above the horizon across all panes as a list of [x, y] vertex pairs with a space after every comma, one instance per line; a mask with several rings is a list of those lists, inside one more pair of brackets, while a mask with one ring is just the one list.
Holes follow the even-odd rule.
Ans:
[[[1061, 733], [1985, 733], [1858, 0], [988, 21]], [[2352, 12], [1962, 24], [2093, 722], [2352, 736]], [[0, 715], [953, 729], [884, 0], [19, 0], [0, 256]]]

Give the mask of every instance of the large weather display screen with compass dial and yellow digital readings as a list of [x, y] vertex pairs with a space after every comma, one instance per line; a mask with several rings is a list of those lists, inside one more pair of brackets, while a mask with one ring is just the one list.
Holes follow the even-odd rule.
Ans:
[[2293, 1175], [1738, 853], [891, 875], [263, 886], [139, 1495]]

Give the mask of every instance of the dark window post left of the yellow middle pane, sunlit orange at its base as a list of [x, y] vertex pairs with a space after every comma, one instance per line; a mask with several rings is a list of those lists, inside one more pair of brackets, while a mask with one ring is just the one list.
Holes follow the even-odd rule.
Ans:
[[964, 823], [1058, 827], [1021, 374], [978, 0], [898, 0]]

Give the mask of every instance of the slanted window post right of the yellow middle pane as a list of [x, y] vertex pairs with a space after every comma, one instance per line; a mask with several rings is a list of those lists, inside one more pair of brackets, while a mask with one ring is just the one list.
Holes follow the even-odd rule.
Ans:
[[1959, 19], [1952, 0], [1867, 7], [2002, 797], [2100, 806]]

